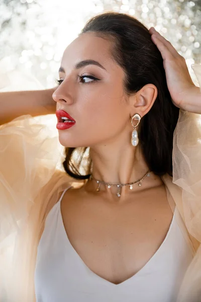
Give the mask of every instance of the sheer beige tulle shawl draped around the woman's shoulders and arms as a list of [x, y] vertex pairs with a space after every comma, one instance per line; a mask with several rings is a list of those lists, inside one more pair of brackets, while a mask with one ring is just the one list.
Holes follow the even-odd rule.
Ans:
[[[201, 87], [201, 65], [191, 66]], [[9, 86], [11, 77], [12, 82], [18, 80], [18, 88]], [[25, 90], [19, 77], [23, 80], [24, 75], [8, 72], [1, 91]], [[173, 178], [163, 176], [169, 204], [179, 210], [177, 220], [194, 256], [176, 302], [201, 301], [200, 117], [180, 110], [173, 137]], [[36, 300], [34, 271], [45, 218], [59, 193], [69, 184], [76, 186], [62, 169], [64, 147], [55, 124], [54, 115], [25, 115], [0, 126], [0, 301]]]

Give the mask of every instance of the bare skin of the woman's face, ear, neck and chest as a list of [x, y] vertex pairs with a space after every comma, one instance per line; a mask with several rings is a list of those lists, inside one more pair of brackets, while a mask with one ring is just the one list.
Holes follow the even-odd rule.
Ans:
[[[92, 47], [91, 47], [92, 45]], [[139, 145], [131, 144], [131, 116], [149, 112], [157, 97], [153, 84], [128, 97], [123, 69], [110, 55], [111, 41], [85, 33], [64, 51], [60, 86], [53, 93], [57, 109], [67, 111], [76, 124], [58, 130], [64, 146], [90, 146], [93, 175], [112, 183], [127, 183], [144, 176], [148, 167]], [[95, 60], [104, 68], [87, 64]], [[92, 75], [94, 81], [80, 75]], [[89, 181], [69, 189], [61, 201], [64, 228], [75, 252], [96, 275], [120, 284], [135, 275], [163, 242], [172, 219], [166, 188], [151, 173], [142, 187], [117, 189]]]

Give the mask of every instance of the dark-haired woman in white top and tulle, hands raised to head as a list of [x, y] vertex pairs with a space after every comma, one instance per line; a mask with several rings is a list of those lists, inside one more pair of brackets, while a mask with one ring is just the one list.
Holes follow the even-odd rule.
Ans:
[[[153, 28], [105, 13], [65, 49], [59, 78], [52, 92], [1, 94], [2, 254], [17, 232], [2, 294], [199, 301], [201, 94], [184, 58]], [[53, 103], [65, 155], [48, 125], [22, 116]]]

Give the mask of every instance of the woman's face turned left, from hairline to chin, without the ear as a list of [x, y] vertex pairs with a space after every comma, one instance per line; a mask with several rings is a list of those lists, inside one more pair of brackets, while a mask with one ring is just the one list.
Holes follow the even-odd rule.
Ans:
[[52, 95], [56, 109], [66, 111], [76, 122], [58, 130], [64, 146], [108, 144], [128, 129], [132, 131], [131, 106], [123, 88], [124, 71], [113, 60], [111, 47], [109, 39], [85, 33], [64, 51], [61, 84]]

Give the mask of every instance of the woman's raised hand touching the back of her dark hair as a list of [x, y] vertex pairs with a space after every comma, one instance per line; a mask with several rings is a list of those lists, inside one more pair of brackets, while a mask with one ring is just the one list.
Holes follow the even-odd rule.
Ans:
[[[183, 110], [201, 113], [201, 94], [199, 88], [191, 80], [184, 57], [153, 27], [149, 29], [149, 33], [163, 58], [172, 103]], [[192, 104], [192, 102], [196, 104]]]

